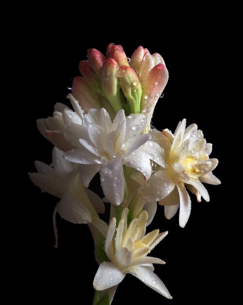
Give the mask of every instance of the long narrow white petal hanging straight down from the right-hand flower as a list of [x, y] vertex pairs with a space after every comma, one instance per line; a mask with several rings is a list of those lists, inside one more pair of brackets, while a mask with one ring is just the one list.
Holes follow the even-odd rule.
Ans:
[[184, 228], [191, 214], [191, 198], [185, 187], [180, 184], [176, 186], [180, 196], [179, 225]]

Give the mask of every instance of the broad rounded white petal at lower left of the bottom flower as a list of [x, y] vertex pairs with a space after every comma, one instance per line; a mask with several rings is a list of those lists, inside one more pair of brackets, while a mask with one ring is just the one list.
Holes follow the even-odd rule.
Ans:
[[94, 277], [93, 286], [97, 291], [113, 287], [121, 283], [125, 274], [121, 272], [112, 263], [103, 262], [96, 272]]

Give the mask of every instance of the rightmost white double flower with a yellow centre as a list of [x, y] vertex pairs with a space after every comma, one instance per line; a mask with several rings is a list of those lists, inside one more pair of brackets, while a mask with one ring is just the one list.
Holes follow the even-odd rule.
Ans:
[[[159, 201], [165, 206], [165, 216], [170, 219], [180, 206], [179, 225], [185, 227], [191, 213], [191, 199], [186, 187], [201, 201], [208, 202], [208, 191], [202, 184], [217, 185], [220, 180], [211, 172], [218, 164], [217, 159], [209, 159], [212, 145], [206, 143], [203, 133], [192, 124], [186, 128], [186, 120], [178, 124], [175, 134], [164, 130], [152, 131], [152, 140], [163, 148], [163, 164], [155, 168], [149, 185], [142, 184], [139, 196], [146, 201]], [[153, 143], [153, 142], [152, 142]], [[159, 163], [154, 158], [156, 163]], [[156, 165], [156, 164], [155, 164]]]

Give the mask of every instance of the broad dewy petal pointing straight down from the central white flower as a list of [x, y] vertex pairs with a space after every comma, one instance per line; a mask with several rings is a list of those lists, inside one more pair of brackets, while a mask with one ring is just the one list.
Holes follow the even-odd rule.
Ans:
[[124, 197], [125, 179], [122, 164], [117, 169], [102, 168], [101, 186], [110, 203], [119, 206]]

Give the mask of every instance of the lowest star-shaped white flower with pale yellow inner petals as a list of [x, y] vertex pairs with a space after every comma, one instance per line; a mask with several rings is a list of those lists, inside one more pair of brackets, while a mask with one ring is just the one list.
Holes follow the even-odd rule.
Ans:
[[94, 277], [93, 286], [101, 291], [121, 283], [130, 273], [168, 299], [168, 289], [153, 272], [152, 264], [165, 264], [159, 258], [147, 254], [168, 234], [158, 229], [145, 235], [148, 214], [143, 211], [127, 227], [128, 209], [124, 209], [116, 231], [116, 218], [112, 218], [106, 235], [104, 250], [110, 262], [103, 262]]

